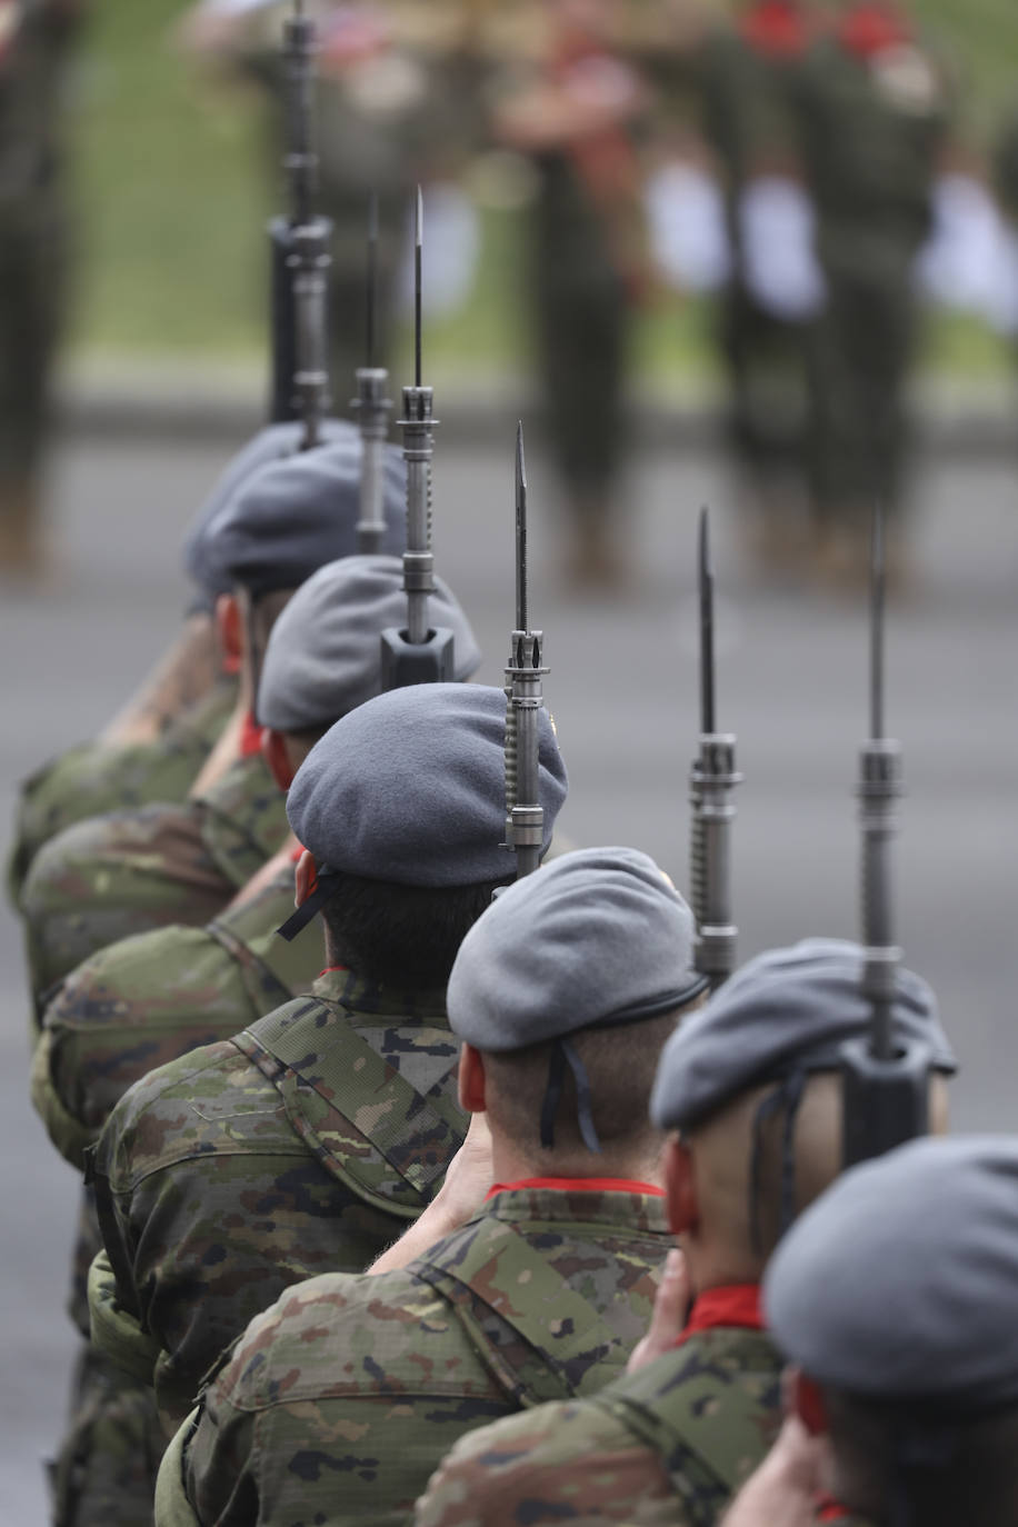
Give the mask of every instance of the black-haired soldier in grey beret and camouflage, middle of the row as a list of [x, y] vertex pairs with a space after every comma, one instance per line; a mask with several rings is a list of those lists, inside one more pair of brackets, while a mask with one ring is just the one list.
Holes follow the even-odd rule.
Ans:
[[[174, 1426], [255, 1313], [322, 1267], [366, 1266], [462, 1141], [444, 988], [510, 875], [504, 725], [502, 690], [424, 684], [322, 738], [287, 809], [298, 921], [321, 906], [327, 970], [310, 999], [150, 1073], [99, 1139], [111, 1277], [96, 1264], [93, 1339], [154, 1379]], [[540, 797], [549, 838], [565, 771], [543, 712]]]

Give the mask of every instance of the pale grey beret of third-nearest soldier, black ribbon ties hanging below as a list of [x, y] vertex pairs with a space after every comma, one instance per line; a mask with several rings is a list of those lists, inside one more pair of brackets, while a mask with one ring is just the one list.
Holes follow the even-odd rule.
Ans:
[[693, 913], [638, 849], [578, 849], [516, 881], [459, 945], [449, 1023], [481, 1051], [656, 1017], [704, 989]]

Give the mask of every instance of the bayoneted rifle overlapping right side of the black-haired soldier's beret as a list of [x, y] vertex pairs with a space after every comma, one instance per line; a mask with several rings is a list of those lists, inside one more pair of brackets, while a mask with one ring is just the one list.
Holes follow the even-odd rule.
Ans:
[[527, 586], [527, 463], [523, 425], [516, 426], [516, 631], [505, 667], [505, 846], [516, 854], [516, 878], [540, 864], [545, 811], [540, 805], [539, 715], [545, 704], [542, 676], [545, 634], [530, 629]]

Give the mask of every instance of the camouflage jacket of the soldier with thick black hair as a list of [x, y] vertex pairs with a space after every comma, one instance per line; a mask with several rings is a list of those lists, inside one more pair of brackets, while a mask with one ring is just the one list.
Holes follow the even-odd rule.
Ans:
[[122, 1098], [92, 1157], [92, 1332], [124, 1364], [136, 1345], [174, 1425], [288, 1284], [360, 1272], [430, 1200], [466, 1135], [458, 1051], [444, 993], [327, 971]]

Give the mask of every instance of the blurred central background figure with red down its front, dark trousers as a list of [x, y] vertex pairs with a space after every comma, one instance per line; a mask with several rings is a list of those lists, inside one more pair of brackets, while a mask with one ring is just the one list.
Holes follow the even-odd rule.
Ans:
[[626, 580], [615, 534], [626, 362], [650, 279], [638, 160], [649, 98], [626, 56], [624, 6], [546, 0], [539, 20], [533, 56], [496, 82], [493, 130], [537, 173], [527, 304], [572, 521], [566, 576], [610, 591]]

